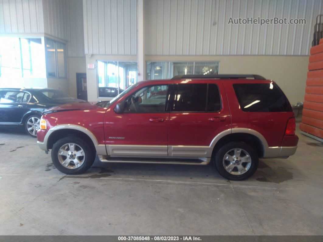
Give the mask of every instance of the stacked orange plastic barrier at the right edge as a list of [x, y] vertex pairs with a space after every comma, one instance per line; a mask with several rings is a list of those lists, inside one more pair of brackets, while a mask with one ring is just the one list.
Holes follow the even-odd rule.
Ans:
[[299, 129], [323, 139], [323, 38], [311, 48]]

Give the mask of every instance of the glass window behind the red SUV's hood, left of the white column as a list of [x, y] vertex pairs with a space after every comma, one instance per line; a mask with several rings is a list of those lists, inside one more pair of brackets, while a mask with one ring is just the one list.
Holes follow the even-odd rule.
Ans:
[[97, 61], [97, 68], [99, 97], [115, 97], [138, 82], [137, 62]]

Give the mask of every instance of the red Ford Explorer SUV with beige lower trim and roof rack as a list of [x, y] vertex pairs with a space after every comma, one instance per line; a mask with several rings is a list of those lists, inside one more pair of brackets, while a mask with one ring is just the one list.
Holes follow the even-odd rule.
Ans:
[[225, 178], [255, 173], [258, 158], [297, 148], [282, 90], [258, 75], [183, 75], [139, 82], [110, 102], [70, 103], [43, 113], [37, 132], [65, 174], [101, 162], [206, 165]]

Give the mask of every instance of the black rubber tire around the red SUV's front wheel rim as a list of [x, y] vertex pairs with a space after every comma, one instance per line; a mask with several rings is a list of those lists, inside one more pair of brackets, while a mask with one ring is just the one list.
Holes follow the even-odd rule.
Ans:
[[[59, 161], [58, 151], [60, 150], [60, 148], [63, 145], [68, 144], [68, 143], [74, 143], [84, 151], [84, 160], [83, 160], [82, 164], [77, 168], [68, 169], [68, 168], [64, 167]], [[52, 157], [53, 164], [55, 165], [57, 170], [59, 170], [60, 172], [68, 174], [68, 175], [82, 174], [82, 173], [86, 172], [94, 163], [95, 151], [93, 151], [91, 149], [90, 145], [87, 142], [83, 141], [80, 137], [70, 135], [65, 138], [59, 139], [59, 140], [57, 140], [57, 142], [54, 143], [53, 149], [51, 151], [51, 157]], [[65, 156], [60, 155], [60, 157], [65, 157]], [[69, 158], [68, 156], [66, 156], [66, 157]], [[74, 161], [71, 160], [71, 162], [72, 162], [71, 164], [73, 166]]]

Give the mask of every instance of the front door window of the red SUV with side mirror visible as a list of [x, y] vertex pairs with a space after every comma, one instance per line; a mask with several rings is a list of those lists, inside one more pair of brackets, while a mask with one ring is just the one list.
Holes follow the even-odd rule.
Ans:
[[124, 112], [164, 112], [168, 85], [148, 86], [130, 95], [124, 104]]

